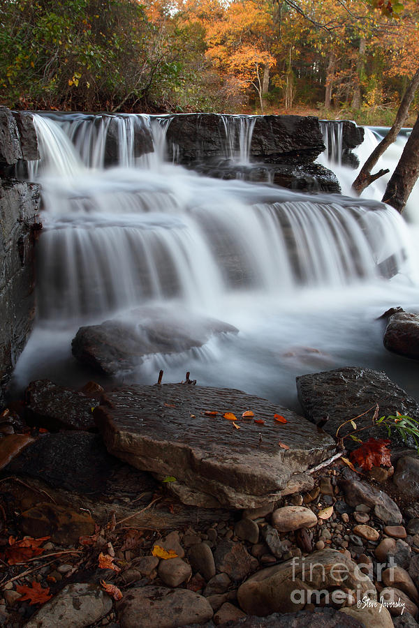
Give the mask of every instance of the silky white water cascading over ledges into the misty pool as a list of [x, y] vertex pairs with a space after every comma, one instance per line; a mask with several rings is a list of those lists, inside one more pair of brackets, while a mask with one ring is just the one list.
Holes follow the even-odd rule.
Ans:
[[[295, 407], [296, 375], [356, 365], [386, 371], [419, 398], [418, 366], [384, 350], [375, 320], [391, 306], [418, 308], [419, 263], [411, 227], [397, 212], [163, 163], [168, 119], [120, 118], [119, 165], [103, 170], [109, 118], [36, 118], [43, 163], [31, 176], [41, 181], [44, 205], [38, 321], [15, 371], [17, 387], [38, 377], [83, 384], [92, 375], [71, 357], [78, 327], [164, 303], [219, 317], [240, 334], [152, 357], [133, 381], [154, 383], [160, 368], [166, 382], [191, 371], [199, 384]], [[135, 156], [138, 124], [151, 124], [154, 154]], [[252, 124], [241, 117], [235, 127], [240, 151], [234, 138], [226, 142], [236, 163], [249, 160]], [[333, 170], [349, 190], [354, 171]], [[378, 188], [373, 193], [381, 198]], [[377, 264], [390, 255], [399, 272], [388, 280]]]

